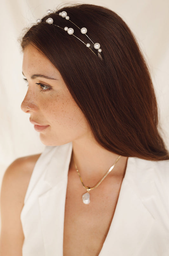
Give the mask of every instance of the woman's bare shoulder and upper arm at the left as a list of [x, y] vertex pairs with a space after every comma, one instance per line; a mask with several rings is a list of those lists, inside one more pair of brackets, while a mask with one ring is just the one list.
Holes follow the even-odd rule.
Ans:
[[40, 154], [16, 159], [4, 173], [1, 187], [0, 256], [22, 255], [24, 234], [20, 220], [24, 197]]

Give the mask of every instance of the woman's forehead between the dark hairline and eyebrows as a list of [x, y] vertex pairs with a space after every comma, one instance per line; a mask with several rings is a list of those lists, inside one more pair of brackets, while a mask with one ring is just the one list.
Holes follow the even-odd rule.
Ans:
[[31, 75], [35, 72], [48, 73], [50, 75], [60, 74], [50, 60], [33, 45], [28, 45], [25, 47], [23, 51], [22, 67], [25, 75]]

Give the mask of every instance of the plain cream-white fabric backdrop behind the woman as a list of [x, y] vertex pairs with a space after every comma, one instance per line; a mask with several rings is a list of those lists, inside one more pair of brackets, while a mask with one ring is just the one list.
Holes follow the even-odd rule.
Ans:
[[[16, 158], [40, 153], [44, 145], [20, 105], [27, 86], [22, 77], [22, 53], [17, 39], [27, 25], [36, 22], [63, 1], [5, 0], [0, 9], [0, 185], [6, 167]], [[69, 1], [67, 3], [83, 3]], [[169, 1], [85, 0], [114, 10], [129, 25], [147, 59], [159, 103], [160, 123], [169, 148]]]

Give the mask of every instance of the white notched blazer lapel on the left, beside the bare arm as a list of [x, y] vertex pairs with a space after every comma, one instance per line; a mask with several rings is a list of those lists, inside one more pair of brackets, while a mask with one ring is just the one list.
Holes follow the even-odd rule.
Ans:
[[58, 147], [44, 177], [50, 188], [38, 198], [46, 256], [63, 255], [65, 198], [71, 154], [72, 143]]

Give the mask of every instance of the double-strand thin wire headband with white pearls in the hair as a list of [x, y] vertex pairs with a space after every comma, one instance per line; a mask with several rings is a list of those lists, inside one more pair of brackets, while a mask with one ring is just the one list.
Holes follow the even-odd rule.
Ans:
[[[48, 15], [50, 15], [50, 14], [52, 14], [52, 13], [54, 13], [53, 10], [50, 10], [50, 9], [47, 10], [47, 14], [48, 14]], [[66, 11], [62, 11], [62, 12], [60, 12], [59, 14], [56, 13], [56, 15], [59, 15], [59, 16], [61, 16], [62, 18], [65, 18], [66, 20], [69, 20], [71, 23], [73, 23], [73, 22], [69, 19], [69, 16], [67, 16], [67, 12], [66, 12]], [[41, 21], [42, 21], [41, 19], [37, 19], [37, 20], [36, 20], [36, 22], [37, 22], [38, 24], [41, 23]], [[73, 29], [73, 28], [68, 28], [68, 27], [62, 28], [62, 27], [60, 27], [60, 26], [58, 26], [58, 25], [55, 25], [55, 24], [53, 24], [53, 19], [52, 19], [52, 18], [48, 18], [48, 19], [46, 20], [46, 23], [52, 24], [52, 25], [54, 25], [54, 26], [56, 26], [56, 27], [59, 27], [59, 28], [63, 29], [64, 31], [67, 31], [69, 35], [73, 35], [74, 37], [76, 37], [76, 36], [73, 34], [73, 33], [74, 33], [74, 29]], [[80, 29], [75, 23], [73, 23], [73, 24], [74, 24], [78, 29]], [[80, 31], [81, 31], [82, 34], [84, 34], [85, 36], [88, 37], [88, 35], [86, 34], [86, 33], [87, 33], [87, 28], [81, 28]], [[76, 38], [79, 39], [83, 44], [85, 44], [80, 38], [78, 38], [78, 37], [76, 37]], [[100, 54], [100, 53], [102, 52], [102, 50], [101, 50], [101, 48], [100, 48], [100, 44], [99, 44], [99, 43], [95, 43], [95, 44], [94, 44], [94, 42], [93, 42], [89, 37], [88, 37], [88, 39], [93, 43], [94, 49], [98, 50], [98, 56], [97, 56], [97, 55], [93, 52], [93, 50], [90, 48], [90, 44], [89, 44], [89, 43], [85, 44], [86, 47], [88, 47], [97, 57], [100, 57], [100, 58], [101, 58], [101, 54]]]

